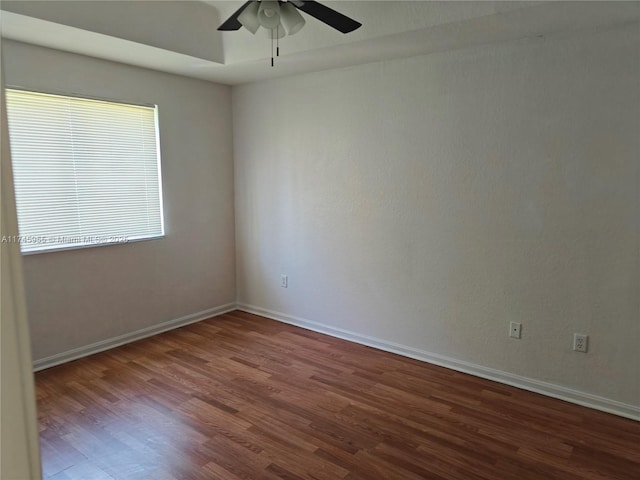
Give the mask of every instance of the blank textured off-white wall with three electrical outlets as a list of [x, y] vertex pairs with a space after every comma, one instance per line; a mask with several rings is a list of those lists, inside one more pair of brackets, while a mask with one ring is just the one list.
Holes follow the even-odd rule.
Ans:
[[638, 414], [639, 48], [634, 24], [234, 88], [239, 302]]

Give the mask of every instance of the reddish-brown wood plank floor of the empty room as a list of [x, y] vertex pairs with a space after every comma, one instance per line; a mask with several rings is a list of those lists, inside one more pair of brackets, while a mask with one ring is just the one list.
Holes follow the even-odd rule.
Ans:
[[640, 478], [640, 423], [233, 312], [36, 375], [45, 478]]

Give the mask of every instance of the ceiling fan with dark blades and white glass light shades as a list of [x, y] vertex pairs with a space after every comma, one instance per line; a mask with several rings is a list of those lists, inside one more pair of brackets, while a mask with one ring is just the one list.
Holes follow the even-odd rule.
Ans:
[[272, 38], [293, 35], [304, 26], [304, 18], [298, 10], [317, 18], [342, 33], [349, 33], [362, 24], [311, 0], [249, 0], [245, 2], [218, 30], [233, 31], [245, 27], [256, 33], [260, 26], [271, 30]]

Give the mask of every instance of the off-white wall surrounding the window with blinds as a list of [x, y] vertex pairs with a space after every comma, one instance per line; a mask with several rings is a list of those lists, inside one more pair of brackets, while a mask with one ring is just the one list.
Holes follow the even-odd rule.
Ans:
[[2, 54], [8, 86], [155, 103], [159, 114], [166, 237], [25, 256], [34, 358], [233, 303], [230, 88], [16, 42]]

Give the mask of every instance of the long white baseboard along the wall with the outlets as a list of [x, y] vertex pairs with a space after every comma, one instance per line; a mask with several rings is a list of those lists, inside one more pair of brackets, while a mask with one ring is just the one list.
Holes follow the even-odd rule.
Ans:
[[350, 342], [367, 345], [369, 347], [377, 348], [391, 353], [397, 353], [405, 357], [414, 358], [441, 367], [450, 368], [458, 372], [468, 373], [495, 382], [511, 385], [513, 387], [521, 388], [531, 392], [546, 395], [548, 397], [558, 398], [567, 402], [582, 405], [584, 407], [593, 408], [621, 417], [630, 418], [632, 420], [640, 421], [640, 407], [635, 405], [629, 405], [626, 403], [617, 402], [608, 398], [600, 397], [579, 390], [555, 385], [532, 378], [522, 377], [513, 373], [496, 370], [493, 368], [484, 367], [470, 362], [464, 362], [456, 360], [455, 358], [446, 357], [436, 353], [427, 352], [425, 350], [408, 347], [393, 342], [388, 342], [375, 337], [369, 337], [367, 335], [361, 335], [359, 333], [343, 330], [341, 328], [330, 327], [318, 322], [306, 320], [304, 318], [294, 317], [281, 312], [275, 312], [273, 310], [267, 310], [264, 308], [256, 307], [254, 305], [248, 305], [238, 303], [238, 310], [242, 310], [247, 313], [253, 313], [263, 317], [271, 318], [279, 322], [288, 323], [297, 327], [305, 328], [307, 330], [313, 330], [314, 332], [324, 333], [332, 337], [342, 338]]

